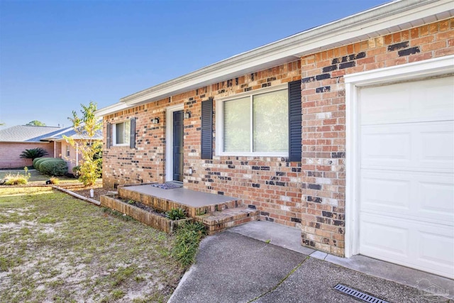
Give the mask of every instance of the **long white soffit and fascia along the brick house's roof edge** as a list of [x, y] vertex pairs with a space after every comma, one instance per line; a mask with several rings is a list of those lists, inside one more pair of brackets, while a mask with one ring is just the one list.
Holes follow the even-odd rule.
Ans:
[[452, 16], [454, 16], [453, 0], [393, 1], [157, 84], [123, 97], [119, 103], [100, 109], [96, 114], [104, 116], [133, 105], [157, 101], [191, 89], [292, 62], [304, 55], [403, 31]]

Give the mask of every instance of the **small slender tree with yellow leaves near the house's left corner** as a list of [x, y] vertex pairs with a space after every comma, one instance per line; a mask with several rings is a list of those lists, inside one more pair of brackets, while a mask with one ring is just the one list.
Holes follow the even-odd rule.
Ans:
[[79, 135], [78, 137], [81, 138], [81, 141], [74, 141], [74, 138], [67, 136], [64, 138], [73, 147], [77, 145], [79, 152], [82, 154], [82, 160], [79, 163], [79, 181], [85, 186], [92, 186], [101, 175], [101, 165], [99, 163], [102, 158], [99, 158], [99, 155], [102, 153], [102, 143], [99, 140], [94, 140], [94, 137], [101, 130], [102, 123], [94, 116], [96, 103], [90, 101], [88, 106], [80, 105], [82, 106], [80, 110], [82, 116], [79, 117], [76, 111], [72, 111], [72, 118], [68, 119], [72, 122], [74, 131]]

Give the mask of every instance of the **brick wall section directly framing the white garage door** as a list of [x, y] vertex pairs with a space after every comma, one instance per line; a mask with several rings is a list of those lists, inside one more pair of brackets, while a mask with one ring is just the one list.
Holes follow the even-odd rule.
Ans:
[[454, 19], [301, 57], [302, 243], [344, 255], [343, 75], [454, 54]]

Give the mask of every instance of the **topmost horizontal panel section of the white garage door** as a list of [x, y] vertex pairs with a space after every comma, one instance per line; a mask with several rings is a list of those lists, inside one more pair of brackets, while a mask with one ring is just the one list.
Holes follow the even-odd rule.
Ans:
[[361, 124], [454, 119], [454, 77], [360, 89]]

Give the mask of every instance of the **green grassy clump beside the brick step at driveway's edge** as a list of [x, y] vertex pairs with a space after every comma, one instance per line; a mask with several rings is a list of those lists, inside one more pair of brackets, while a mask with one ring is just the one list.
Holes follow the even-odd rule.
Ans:
[[181, 265], [194, 263], [201, 238], [205, 235], [205, 226], [200, 222], [184, 222], [178, 227], [172, 257]]

